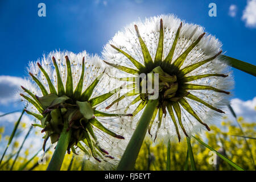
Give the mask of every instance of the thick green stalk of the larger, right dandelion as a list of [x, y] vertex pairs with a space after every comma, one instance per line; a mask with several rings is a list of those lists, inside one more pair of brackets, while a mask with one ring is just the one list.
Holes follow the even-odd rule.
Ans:
[[158, 105], [158, 100], [149, 100], [141, 118], [139, 119], [137, 128], [135, 129], [133, 136], [128, 143], [125, 152], [118, 164], [117, 170], [127, 171], [133, 170], [134, 164], [136, 162], [139, 150], [141, 149], [144, 137], [146, 135], [148, 125], [153, 116], [152, 111], [155, 110], [155, 107]]

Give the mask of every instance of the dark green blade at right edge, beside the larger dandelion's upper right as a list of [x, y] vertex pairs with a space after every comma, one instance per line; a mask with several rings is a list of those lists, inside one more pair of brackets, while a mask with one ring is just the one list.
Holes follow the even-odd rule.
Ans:
[[220, 60], [229, 64], [233, 68], [240, 69], [243, 72], [249, 73], [250, 75], [256, 76], [256, 66], [250, 63], [243, 62], [238, 59], [234, 59], [233, 57], [220, 55]]

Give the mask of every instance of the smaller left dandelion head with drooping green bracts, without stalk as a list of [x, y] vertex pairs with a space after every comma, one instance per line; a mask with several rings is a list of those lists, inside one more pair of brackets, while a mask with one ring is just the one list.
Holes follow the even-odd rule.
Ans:
[[[64, 58], [64, 55], [68, 56]], [[77, 146], [85, 154], [92, 153], [93, 158], [99, 162], [105, 157], [113, 159], [99, 140], [108, 139], [105, 134], [117, 139], [124, 138], [102, 125], [102, 122], [106, 123], [102, 118], [111, 119], [122, 114], [104, 113], [96, 109], [114, 94], [101, 94], [104, 87], [98, 86], [98, 83], [108, 84], [108, 78], [102, 77], [104, 68], [100, 65], [99, 57], [90, 57], [85, 52], [78, 55], [72, 52], [53, 52], [44, 57], [41, 64], [37, 63], [37, 66], [30, 63], [29, 68], [36, 85], [29, 80], [25, 82], [30, 89], [22, 86], [23, 93], [20, 96], [31, 104], [31, 110], [26, 112], [41, 122], [35, 126], [42, 127], [42, 133], [46, 133], [43, 149], [48, 138], [51, 143], [55, 143], [63, 131], [70, 131], [68, 152], [70, 149], [75, 152], [74, 146]]]

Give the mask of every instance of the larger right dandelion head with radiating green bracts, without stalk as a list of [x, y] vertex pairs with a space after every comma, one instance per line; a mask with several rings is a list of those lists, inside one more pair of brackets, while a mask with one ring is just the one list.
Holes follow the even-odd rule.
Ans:
[[[228, 103], [229, 92], [225, 90], [233, 84], [226, 74], [228, 66], [218, 60], [221, 43], [211, 35], [206, 36], [203, 27], [181, 23], [173, 15], [161, 15], [136, 24], [118, 32], [105, 46], [105, 63], [118, 69], [114, 77], [122, 81], [135, 80], [128, 86], [132, 90], [107, 109], [133, 96], [126, 110], [133, 109], [133, 115], [139, 113], [150, 93], [135, 92], [143, 82], [136, 82], [137, 76], [144, 73], [146, 81], [151, 81], [148, 73], [157, 73], [159, 96], [148, 127], [151, 137], [153, 129], [154, 139], [158, 134], [169, 138], [176, 135], [179, 141], [183, 137], [181, 133], [189, 137], [203, 127], [210, 131], [206, 122], [214, 114], [224, 113], [220, 107]], [[123, 72], [128, 73], [127, 77], [116, 76]]]

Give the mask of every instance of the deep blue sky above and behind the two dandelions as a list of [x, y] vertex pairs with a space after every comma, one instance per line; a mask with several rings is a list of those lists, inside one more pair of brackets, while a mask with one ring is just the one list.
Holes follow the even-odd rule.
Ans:
[[[46, 4], [46, 17], [38, 16], [40, 2]], [[217, 5], [216, 17], [208, 15], [208, 5], [212, 2]], [[233, 17], [229, 15], [231, 5], [236, 5]], [[246, 5], [247, 1], [241, 0], [2, 0], [0, 76], [23, 78], [27, 76], [28, 61], [37, 60], [43, 53], [55, 49], [75, 53], [86, 50], [100, 55], [102, 47], [126, 24], [159, 14], [175, 14], [189, 23], [204, 26], [207, 32], [221, 40], [226, 55], [255, 65], [256, 28], [246, 26], [245, 20], [241, 19]], [[236, 69], [233, 71], [236, 84], [233, 97], [252, 100], [255, 97], [255, 77]], [[5, 84], [0, 83], [0, 89], [9, 92]], [[17, 103], [0, 103], [3, 113], [19, 108]]]

